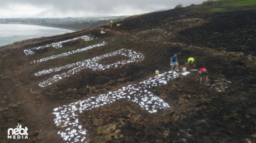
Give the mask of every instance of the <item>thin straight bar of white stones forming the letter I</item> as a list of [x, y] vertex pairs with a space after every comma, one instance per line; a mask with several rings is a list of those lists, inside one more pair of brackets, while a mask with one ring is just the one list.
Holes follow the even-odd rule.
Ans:
[[75, 54], [75, 53], [78, 53], [78, 52], [87, 51], [89, 49], [93, 49], [94, 47], [100, 47], [100, 46], [103, 46], [103, 45], [106, 45], [106, 44], [107, 43], [103, 42], [103, 43], [91, 45], [91, 46], [88, 46], [88, 47], [85, 47], [85, 48], [82, 48], [82, 49], [77, 49], [77, 50], [73, 50], [73, 51], [69, 51], [69, 52], [64, 52], [64, 53], [53, 55], [53, 56], [48, 56], [48, 57], [42, 58], [40, 60], [34, 60], [34, 61], [30, 62], [30, 64], [31, 63], [45, 62], [45, 61], [52, 60], [52, 59], [55, 59], [55, 58], [61, 58], [63, 56], [69, 56], [70, 54]]

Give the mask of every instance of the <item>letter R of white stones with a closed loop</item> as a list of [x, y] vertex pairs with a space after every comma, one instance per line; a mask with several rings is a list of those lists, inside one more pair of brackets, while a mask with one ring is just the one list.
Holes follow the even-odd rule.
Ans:
[[[115, 62], [115, 63], [109, 64], [109, 65], [98, 64], [99, 60], [102, 60], [104, 58], [108, 58], [108, 57], [111, 57], [111, 56], [116, 56], [117, 54], [127, 56], [127, 57], [129, 57], [129, 60], [124, 60], [122, 62]], [[117, 68], [119, 66], [122, 67], [122, 65], [126, 65], [127, 63], [139, 62], [143, 59], [144, 59], [144, 56], [141, 53], [137, 53], [137, 52], [132, 51], [132, 50], [121, 49], [121, 50], [111, 52], [111, 53], [108, 53], [108, 54], [104, 54], [104, 55], [101, 55], [101, 56], [97, 56], [97, 57], [94, 57], [94, 58], [91, 58], [91, 59], [88, 59], [88, 60], [84, 60], [84, 61], [80, 61], [80, 62], [76, 62], [76, 63], [71, 63], [71, 64], [67, 64], [65, 66], [56, 67], [56, 68], [52, 68], [52, 69], [48, 69], [48, 70], [39, 71], [39, 72], [34, 73], [34, 75], [35, 76], [41, 76], [41, 75], [44, 75], [44, 74], [48, 74], [50, 72], [58, 72], [58, 71], [61, 71], [61, 70], [64, 70], [64, 69], [73, 68], [73, 69], [70, 69], [67, 72], [63, 72], [60, 75], [57, 74], [57, 75], [53, 76], [52, 78], [39, 83], [40, 87], [45, 87], [47, 85], [51, 85], [52, 83], [63, 79], [63, 78], [69, 77], [70, 75], [72, 75], [76, 72], [79, 72], [82, 69], [89, 68], [89, 69], [92, 69], [93, 71], [96, 71], [96, 70], [104, 71], [105, 69], [109, 69], [109, 68]]]

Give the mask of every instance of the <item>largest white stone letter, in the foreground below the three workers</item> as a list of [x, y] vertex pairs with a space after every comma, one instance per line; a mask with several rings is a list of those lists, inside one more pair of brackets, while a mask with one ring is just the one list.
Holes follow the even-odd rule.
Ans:
[[[184, 73], [182, 74], [185, 76], [189, 72]], [[57, 107], [52, 114], [56, 116], [54, 119], [56, 126], [61, 127], [58, 134], [69, 143], [86, 142], [86, 129], [84, 129], [82, 123], [79, 122], [78, 114], [108, 105], [120, 99], [133, 101], [150, 113], [167, 109], [170, 107], [168, 103], [152, 94], [149, 89], [151, 87], [167, 84], [167, 81], [178, 76], [179, 74], [175, 71], [165, 72], [138, 84], [122, 87], [122, 89], [117, 91], [109, 91], [107, 94], [100, 94], [98, 97], [91, 97], [83, 101]]]

